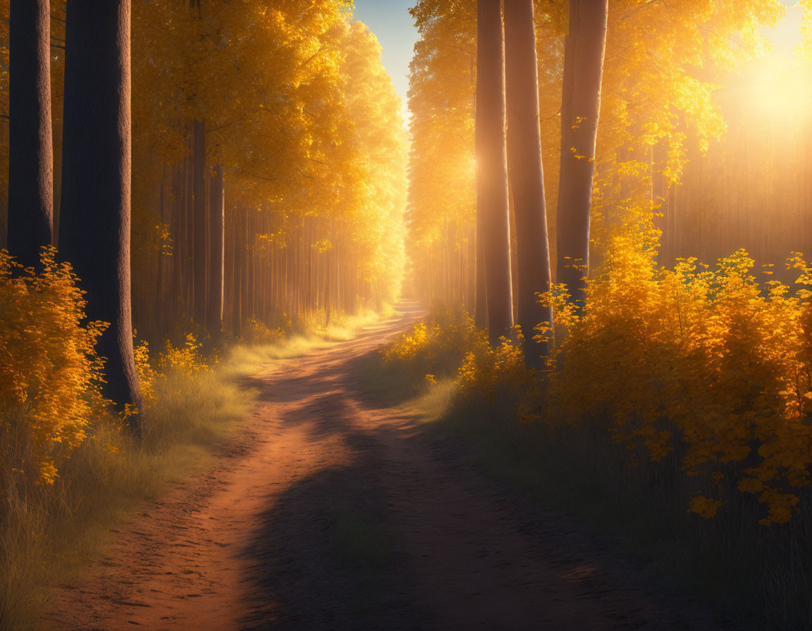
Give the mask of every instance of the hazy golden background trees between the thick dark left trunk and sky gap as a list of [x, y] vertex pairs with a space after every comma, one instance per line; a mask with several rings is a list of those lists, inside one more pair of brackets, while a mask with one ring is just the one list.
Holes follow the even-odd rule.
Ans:
[[[159, 226], [149, 211], [136, 217], [136, 268], [152, 281], [153, 244], [171, 241], [158, 284], [173, 320], [211, 337], [391, 299], [405, 139], [377, 41], [341, 2], [279, 3], [274, 19], [256, 3], [192, 8], [136, 12], [135, 117], [154, 129], [134, 168], [162, 179], [170, 200]], [[145, 208], [160, 205], [159, 186], [142, 191]], [[136, 292], [136, 316], [151, 300]]]

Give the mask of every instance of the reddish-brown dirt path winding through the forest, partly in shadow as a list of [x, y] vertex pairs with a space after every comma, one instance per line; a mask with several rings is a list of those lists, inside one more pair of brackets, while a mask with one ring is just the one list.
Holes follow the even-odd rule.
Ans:
[[138, 509], [50, 629], [720, 629], [692, 603], [376, 408], [366, 354], [420, 314], [257, 378], [208, 474]]

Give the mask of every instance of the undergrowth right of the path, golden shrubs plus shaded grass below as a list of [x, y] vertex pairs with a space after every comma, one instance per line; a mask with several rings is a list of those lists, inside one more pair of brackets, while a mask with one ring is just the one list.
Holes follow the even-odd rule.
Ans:
[[542, 371], [443, 311], [383, 350], [378, 373], [404, 399], [430, 391], [421, 373], [453, 378], [441, 427], [500, 476], [757, 629], [812, 628], [810, 268], [788, 262], [791, 290], [769, 268], [757, 281], [744, 252], [715, 269], [655, 257], [620, 235], [585, 309], [542, 297], [559, 324], [538, 332], [555, 341]]

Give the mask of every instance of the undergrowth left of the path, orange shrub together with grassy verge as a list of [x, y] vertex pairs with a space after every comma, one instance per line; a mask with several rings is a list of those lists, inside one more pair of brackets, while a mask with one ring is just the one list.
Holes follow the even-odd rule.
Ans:
[[102, 397], [95, 341], [67, 264], [45, 251], [35, 273], [0, 251], [0, 631], [37, 629], [50, 589], [110, 544], [134, 505], [204, 470], [253, 406], [248, 376], [332, 342], [380, 317], [366, 312], [309, 333], [251, 336], [221, 355], [197, 337], [136, 344], [144, 414], [139, 436]]

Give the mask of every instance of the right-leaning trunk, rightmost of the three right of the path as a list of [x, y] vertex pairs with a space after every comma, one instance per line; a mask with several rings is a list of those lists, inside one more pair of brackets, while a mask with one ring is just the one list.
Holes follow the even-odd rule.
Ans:
[[592, 179], [608, 5], [608, 0], [570, 0], [564, 44], [556, 279], [581, 305], [590, 268]]

